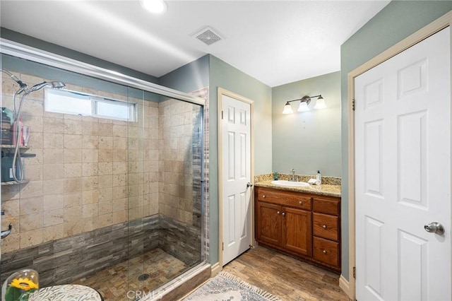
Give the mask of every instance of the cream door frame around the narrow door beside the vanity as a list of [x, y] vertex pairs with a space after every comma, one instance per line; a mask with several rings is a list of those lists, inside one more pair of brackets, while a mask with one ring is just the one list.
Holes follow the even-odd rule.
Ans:
[[[223, 134], [223, 126], [222, 126], [222, 97], [228, 96], [230, 98], [234, 98], [234, 100], [238, 100], [241, 102], [245, 102], [250, 105], [250, 177], [251, 183], [254, 184], [254, 100], [249, 98], [245, 98], [242, 95], [231, 92], [224, 88], [218, 87], [218, 271], [222, 269], [223, 266], [223, 252], [222, 252], [222, 241], [223, 241], [223, 199], [222, 199], [222, 191], [223, 191], [223, 166], [222, 166], [222, 134]], [[250, 229], [251, 229], [251, 245], [256, 244], [256, 239], [254, 238], [255, 229], [254, 229], [254, 187], [251, 187], [251, 219], [250, 219]]]

